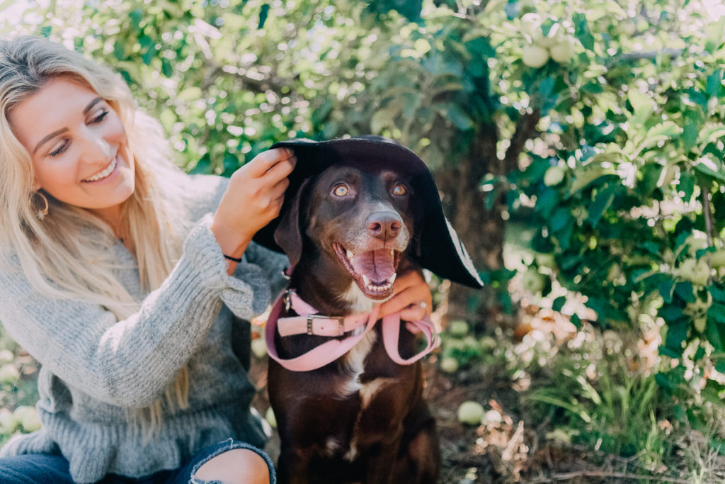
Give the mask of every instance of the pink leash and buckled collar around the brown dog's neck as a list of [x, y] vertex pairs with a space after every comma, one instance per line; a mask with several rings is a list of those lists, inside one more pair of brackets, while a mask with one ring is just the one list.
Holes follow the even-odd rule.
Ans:
[[[288, 299], [289, 298], [289, 299]], [[282, 305], [294, 308], [299, 316], [280, 318]], [[320, 316], [312, 306], [305, 303], [294, 291], [283, 292], [275, 301], [265, 327], [265, 342], [267, 352], [271, 358], [293, 372], [309, 372], [321, 368], [326, 364], [335, 361], [347, 353], [353, 346], [357, 345], [363, 337], [373, 329], [378, 321], [380, 305], [376, 304], [369, 314], [355, 314], [345, 317]], [[330, 340], [296, 358], [280, 358], [274, 343], [275, 331], [279, 329], [281, 336], [289, 335], [320, 335], [320, 336], [341, 336], [346, 332], [358, 327], [365, 330], [357, 335], [346, 337], [344, 340]], [[420, 353], [403, 359], [398, 352], [398, 339], [400, 333], [400, 313], [390, 314], [383, 318], [383, 344], [388, 356], [399, 365], [412, 364], [430, 353], [439, 343], [438, 334], [431, 319], [426, 316], [421, 321], [410, 321], [407, 323], [410, 332], [422, 332], [428, 343]]]

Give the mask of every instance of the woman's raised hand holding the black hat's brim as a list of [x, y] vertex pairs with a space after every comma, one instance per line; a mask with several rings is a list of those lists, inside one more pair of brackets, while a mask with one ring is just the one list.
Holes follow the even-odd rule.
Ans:
[[279, 215], [296, 163], [291, 149], [270, 149], [232, 174], [212, 222], [222, 253], [241, 257], [252, 236]]

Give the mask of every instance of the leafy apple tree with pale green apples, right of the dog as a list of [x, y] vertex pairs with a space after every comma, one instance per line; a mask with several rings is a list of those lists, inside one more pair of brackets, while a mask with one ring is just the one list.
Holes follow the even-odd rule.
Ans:
[[[673, 361], [660, 383], [717, 399], [725, 17], [676, 0], [440, 0], [405, 17], [374, 3], [389, 51], [369, 61], [363, 91], [318, 101], [315, 128], [418, 152], [493, 287], [510, 277], [506, 221], [529, 223], [530, 288], [557, 310], [558, 287], [580, 293], [600, 327], [659, 325]], [[451, 297], [454, 316], [473, 321], [506, 299]]]

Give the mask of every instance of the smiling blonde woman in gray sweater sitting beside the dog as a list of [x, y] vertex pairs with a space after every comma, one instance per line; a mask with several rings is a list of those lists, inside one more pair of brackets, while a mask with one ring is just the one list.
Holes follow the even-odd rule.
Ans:
[[[0, 482], [274, 482], [243, 320], [286, 265], [252, 236], [294, 154], [188, 176], [119, 75], [42, 38], [0, 41], [0, 111], [0, 321], [41, 364], [43, 424]], [[416, 274], [396, 292], [386, 312], [430, 303]]]

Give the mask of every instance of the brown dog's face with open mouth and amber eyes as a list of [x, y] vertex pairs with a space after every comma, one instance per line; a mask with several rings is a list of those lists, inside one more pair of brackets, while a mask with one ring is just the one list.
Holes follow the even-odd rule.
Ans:
[[[278, 245], [292, 263], [304, 254], [315, 258], [310, 266], [322, 268], [331, 281], [352, 279], [365, 297], [390, 298], [413, 238], [413, 184], [394, 171], [346, 165], [327, 168], [308, 183], [283, 216], [275, 234]], [[303, 251], [304, 245], [312, 247]]]

